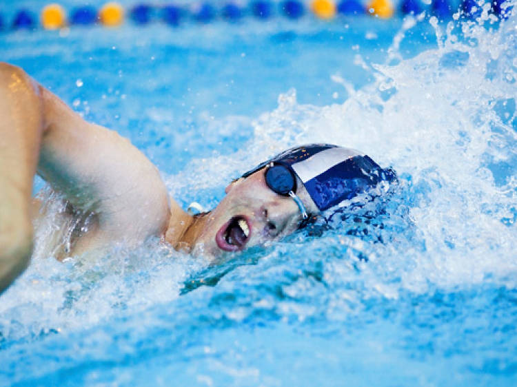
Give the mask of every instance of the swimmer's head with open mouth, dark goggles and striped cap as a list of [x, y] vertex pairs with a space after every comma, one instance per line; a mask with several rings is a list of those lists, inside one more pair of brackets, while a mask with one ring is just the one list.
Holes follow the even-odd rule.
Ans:
[[205, 216], [194, 250], [213, 256], [281, 239], [322, 211], [396, 178], [354, 149], [311, 144], [287, 149], [230, 183]]

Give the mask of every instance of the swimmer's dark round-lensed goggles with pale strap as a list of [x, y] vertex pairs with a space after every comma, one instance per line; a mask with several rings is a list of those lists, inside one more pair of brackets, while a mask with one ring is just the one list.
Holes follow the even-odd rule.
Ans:
[[307, 215], [307, 209], [305, 209], [305, 205], [303, 205], [303, 202], [295, 193], [296, 176], [294, 174], [294, 171], [292, 171], [290, 167], [287, 167], [287, 165], [283, 165], [281, 163], [275, 163], [274, 161], [271, 161], [265, 165], [260, 165], [252, 171], [247, 172], [242, 177], [247, 178], [247, 176], [250, 176], [255, 171], [258, 171], [259, 169], [264, 167], [264, 177], [267, 187], [270, 187], [270, 189], [274, 193], [278, 193], [278, 195], [290, 196], [298, 206], [303, 221], [306, 221], [309, 218], [309, 216]]

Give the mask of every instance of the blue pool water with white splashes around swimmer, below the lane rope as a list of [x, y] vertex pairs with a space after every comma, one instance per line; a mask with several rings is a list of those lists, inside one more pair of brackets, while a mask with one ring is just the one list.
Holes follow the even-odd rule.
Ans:
[[218, 266], [156, 240], [59, 263], [50, 216], [1, 297], [0, 384], [514, 386], [516, 20], [2, 34], [1, 59], [128, 136], [185, 207], [318, 141], [392, 165], [401, 187], [374, 218]]

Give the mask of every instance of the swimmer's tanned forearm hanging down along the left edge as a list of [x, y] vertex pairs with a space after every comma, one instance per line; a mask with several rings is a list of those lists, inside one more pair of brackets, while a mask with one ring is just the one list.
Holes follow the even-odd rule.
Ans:
[[0, 63], [0, 293], [32, 251], [30, 196], [43, 126], [37, 85], [19, 67]]

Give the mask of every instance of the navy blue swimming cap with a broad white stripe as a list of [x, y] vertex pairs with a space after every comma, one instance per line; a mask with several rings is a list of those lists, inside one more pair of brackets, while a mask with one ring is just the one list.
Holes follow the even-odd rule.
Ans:
[[396, 180], [392, 169], [379, 167], [369, 156], [330, 144], [287, 149], [242, 177], [250, 176], [269, 163], [283, 164], [294, 171], [320, 211], [352, 199], [378, 182]]

